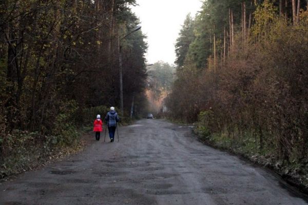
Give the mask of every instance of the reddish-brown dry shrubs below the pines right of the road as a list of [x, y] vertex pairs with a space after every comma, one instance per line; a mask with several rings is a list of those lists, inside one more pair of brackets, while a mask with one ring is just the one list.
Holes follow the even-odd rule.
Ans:
[[297, 25], [272, 19], [266, 36], [238, 42], [216, 69], [186, 63], [167, 101], [173, 117], [191, 122], [203, 111], [206, 135], [252, 140], [255, 152], [283, 163], [308, 162], [307, 12], [301, 16]]

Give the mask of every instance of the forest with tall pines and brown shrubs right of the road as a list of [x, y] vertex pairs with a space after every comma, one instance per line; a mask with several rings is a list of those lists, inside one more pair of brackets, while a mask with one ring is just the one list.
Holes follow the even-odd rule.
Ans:
[[170, 117], [307, 187], [307, 1], [204, 1], [175, 48]]

